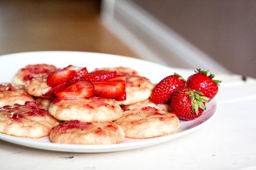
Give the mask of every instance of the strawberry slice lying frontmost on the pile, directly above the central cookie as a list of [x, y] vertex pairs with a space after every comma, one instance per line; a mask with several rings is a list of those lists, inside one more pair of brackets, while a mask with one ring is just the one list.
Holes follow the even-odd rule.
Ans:
[[72, 83], [61, 92], [57, 92], [59, 98], [87, 98], [94, 94], [94, 86], [88, 81], [78, 81]]

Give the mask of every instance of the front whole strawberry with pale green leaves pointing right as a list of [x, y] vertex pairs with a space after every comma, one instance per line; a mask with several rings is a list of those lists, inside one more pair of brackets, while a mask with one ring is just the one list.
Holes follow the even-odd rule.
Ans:
[[205, 102], [209, 102], [208, 97], [201, 96], [203, 93], [188, 87], [176, 90], [171, 97], [169, 111], [178, 116], [179, 119], [191, 121], [199, 117], [206, 109]]

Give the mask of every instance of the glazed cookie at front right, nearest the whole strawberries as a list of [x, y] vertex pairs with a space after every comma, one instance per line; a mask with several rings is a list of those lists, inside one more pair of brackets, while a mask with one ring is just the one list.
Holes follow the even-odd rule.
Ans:
[[174, 113], [168, 113], [152, 107], [125, 111], [117, 119], [128, 138], [152, 138], [179, 131], [180, 121]]

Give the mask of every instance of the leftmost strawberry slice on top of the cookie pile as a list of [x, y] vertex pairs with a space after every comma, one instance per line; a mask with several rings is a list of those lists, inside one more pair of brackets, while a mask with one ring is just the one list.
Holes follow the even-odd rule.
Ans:
[[55, 87], [59, 84], [70, 81], [73, 77], [76, 76], [76, 71], [57, 71], [53, 72], [48, 76], [47, 84], [48, 86]]

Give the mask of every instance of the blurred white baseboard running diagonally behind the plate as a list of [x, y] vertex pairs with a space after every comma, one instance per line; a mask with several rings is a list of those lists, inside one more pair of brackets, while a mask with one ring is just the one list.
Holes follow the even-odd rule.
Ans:
[[143, 59], [170, 67], [200, 67], [216, 73], [229, 72], [131, 1], [102, 1], [101, 19], [111, 32]]

